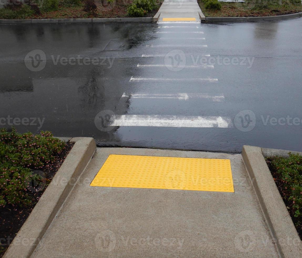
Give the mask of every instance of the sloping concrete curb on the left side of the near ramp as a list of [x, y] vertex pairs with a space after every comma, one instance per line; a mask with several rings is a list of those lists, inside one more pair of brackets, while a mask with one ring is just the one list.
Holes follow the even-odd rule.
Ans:
[[93, 138], [72, 138], [70, 141], [75, 145], [8, 247], [4, 258], [31, 256], [92, 158], [96, 149]]

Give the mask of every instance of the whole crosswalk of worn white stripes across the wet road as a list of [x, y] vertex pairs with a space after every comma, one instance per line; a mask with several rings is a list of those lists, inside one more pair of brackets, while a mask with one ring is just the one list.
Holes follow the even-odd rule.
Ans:
[[[214, 65], [192, 64], [188, 54], [185, 54], [185, 51], [188, 51], [188, 49], [193, 49], [191, 53], [194, 56], [210, 57], [210, 53], [205, 53], [204, 51], [207, 49], [207, 44], [203, 44], [204, 41], [206, 41], [206, 38], [194, 37], [194, 34], [204, 34], [204, 32], [201, 31], [201, 25], [196, 26], [196, 24], [190, 23], [160, 24], [160, 26], [155, 28], [153, 34], [167, 34], [167, 36], [156, 38], [156, 44], [153, 43], [145, 45], [144, 52], [146, 53], [142, 54], [142, 61], [136, 65], [137, 72], [135, 72], [135, 75], [132, 75], [129, 79], [129, 83], [133, 85], [133, 88], [135, 88], [136, 91], [124, 92], [122, 98], [149, 101], [146, 103], [150, 103], [150, 101], [153, 100], [157, 101], [157, 103], [162, 103], [163, 105], [165, 105], [165, 102], [163, 102], [165, 100], [181, 102], [190, 102], [193, 100], [212, 102], [224, 101], [223, 93], [217, 92], [217, 94], [211, 94], [213, 91], [211, 93], [203, 92], [204, 83], [209, 87], [209, 85], [214, 85], [218, 82], [218, 78], [211, 76], [213, 73], [207, 73], [206, 70], [204, 70], [214, 69]], [[178, 43], [183, 43], [187, 39], [191, 40], [190, 44]], [[165, 44], [166, 42], [171, 43]], [[151, 51], [153, 48], [155, 50], [160, 49], [160, 51], [154, 53], [155, 50]], [[165, 69], [164, 73], [162, 73], [162, 69]], [[202, 70], [204, 70], [204, 72], [201, 72]], [[192, 71], [195, 72], [193, 73]], [[147, 83], [149, 87], [146, 87], [145, 83]], [[152, 85], [157, 87], [152, 87]], [[177, 85], [177, 89], [182, 89], [182, 91], [171, 92], [174, 85]], [[169, 90], [167, 90], [167, 86], [169, 86]], [[145, 92], [146, 88], [149, 92]], [[195, 92], [192, 92], [192, 90], [195, 90]], [[233, 122], [230, 117], [211, 116], [211, 114], [207, 114], [207, 116], [204, 116], [204, 114], [202, 116], [175, 114], [163, 115], [154, 114], [153, 112], [151, 114], [144, 115], [113, 115], [109, 121], [109, 125], [178, 128], [233, 127]], [[184, 110], [184, 114], [188, 113], [190, 113], [189, 110]]]

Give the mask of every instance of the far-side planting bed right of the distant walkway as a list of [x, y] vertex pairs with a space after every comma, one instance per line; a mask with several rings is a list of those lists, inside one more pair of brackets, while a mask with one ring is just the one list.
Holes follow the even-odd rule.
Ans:
[[258, 0], [245, 1], [244, 3], [219, 2], [221, 5], [212, 5], [212, 8], [206, 6], [209, 0], [198, 0], [198, 4], [206, 17], [261, 17], [302, 12], [300, 0], [283, 0], [282, 5], [278, 0], [266, 0], [260, 3]]

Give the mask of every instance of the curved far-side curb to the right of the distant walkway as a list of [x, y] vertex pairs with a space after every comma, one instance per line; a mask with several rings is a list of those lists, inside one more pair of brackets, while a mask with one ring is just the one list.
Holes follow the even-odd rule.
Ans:
[[302, 12], [287, 14], [287, 15], [277, 15], [277, 16], [264, 16], [264, 17], [206, 17], [206, 21], [211, 22], [239, 22], [239, 21], [276, 21], [276, 20], [287, 20], [302, 17]]

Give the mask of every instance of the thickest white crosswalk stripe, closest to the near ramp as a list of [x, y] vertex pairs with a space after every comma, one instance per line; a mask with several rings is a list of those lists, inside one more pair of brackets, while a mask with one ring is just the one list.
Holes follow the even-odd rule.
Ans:
[[232, 128], [232, 120], [222, 116], [162, 116], [162, 115], [114, 115], [109, 126], [155, 126]]

